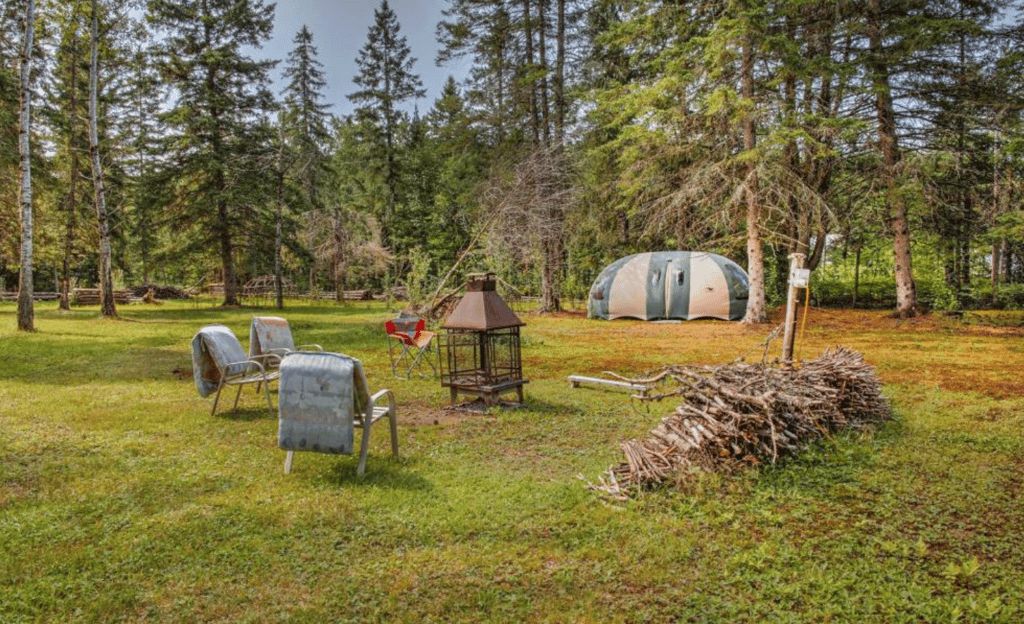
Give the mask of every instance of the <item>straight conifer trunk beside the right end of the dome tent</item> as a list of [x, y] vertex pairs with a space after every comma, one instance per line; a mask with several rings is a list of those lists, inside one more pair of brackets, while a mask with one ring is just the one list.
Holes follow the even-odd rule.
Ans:
[[[754, 45], [751, 36], [743, 38], [742, 66], [740, 68], [742, 81], [742, 97], [748, 101], [754, 99]], [[743, 119], [743, 151], [753, 152], [757, 149], [757, 126], [754, 114], [748, 113]], [[764, 250], [761, 247], [761, 197], [758, 183], [758, 166], [756, 162], [750, 165], [746, 175], [746, 275], [750, 278], [750, 298], [746, 300], [746, 315], [742, 323], [751, 325], [764, 323], [768, 320], [768, 309], [765, 302], [765, 263]]]

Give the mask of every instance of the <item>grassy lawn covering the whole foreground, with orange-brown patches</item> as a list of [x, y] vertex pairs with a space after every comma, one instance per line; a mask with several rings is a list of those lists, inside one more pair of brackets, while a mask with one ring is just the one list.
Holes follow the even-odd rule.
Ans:
[[812, 310], [803, 356], [863, 352], [893, 422], [613, 507], [578, 475], [675, 406], [565, 376], [759, 361], [773, 326], [524, 315], [525, 406], [467, 414], [436, 380], [391, 377], [392, 310], [290, 303], [297, 342], [395, 391], [401, 458], [381, 422], [357, 477], [356, 457], [312, 453], [284, 474], [261, 396], [211, 417], [196, 392], [196, 330], [246, 343], [274, 311], [120, 311], [37, 304], [22, 334], [0, 303], [5, 624], [1024, 621], [1024, 331], [1008, 324]]

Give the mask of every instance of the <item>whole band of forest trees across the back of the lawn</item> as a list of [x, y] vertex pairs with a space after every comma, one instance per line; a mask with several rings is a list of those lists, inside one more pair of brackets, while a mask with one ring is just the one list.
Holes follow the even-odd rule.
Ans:
[[11, 0], [0, 291], [30, 329], [41, 290], [116, 314], [114, 287], [230, 305], [278, 275], [415, 304], [486, 269], [554, 310], [617, 257], [692, 249], [746, 267], [749, 322], [792, 252], [819, 302], [1024, 306], [1019, 10], [449, 0], [433, 60], [469, 71], [421, 112], [385, 0], [336, 116], [310, 29], [258, 56], [262, 0]]

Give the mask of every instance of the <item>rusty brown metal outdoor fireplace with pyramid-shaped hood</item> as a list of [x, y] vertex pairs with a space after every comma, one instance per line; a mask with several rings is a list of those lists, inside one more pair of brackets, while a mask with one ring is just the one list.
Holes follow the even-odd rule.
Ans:
[[441, 386], [457, 397], [470, 394], [495, 405], [499, 394], [515, 391], [522, 403], [519, 328], [525, 323], [495, 290], [494, 274], [473, 276], [466, 294], [441, 325]]

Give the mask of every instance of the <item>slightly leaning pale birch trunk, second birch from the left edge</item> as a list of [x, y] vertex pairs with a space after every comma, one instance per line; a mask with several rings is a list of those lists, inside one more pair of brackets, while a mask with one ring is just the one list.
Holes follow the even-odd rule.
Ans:
[[111, 228], [106, 218], [106, 193], [103, 189], [103, 163], [99, 158], [99, 122], [97, 91], [99, 90], [99, 16], [96, 0], [92, 0], [92, 30], [89, 35], [89, 156], [92, 158], [92, 188], [95, 193], [96, 220], [99, 225], [99, 305], [104, 317], [117, 317], [114, 304], [114, 275], [111, 266]]

